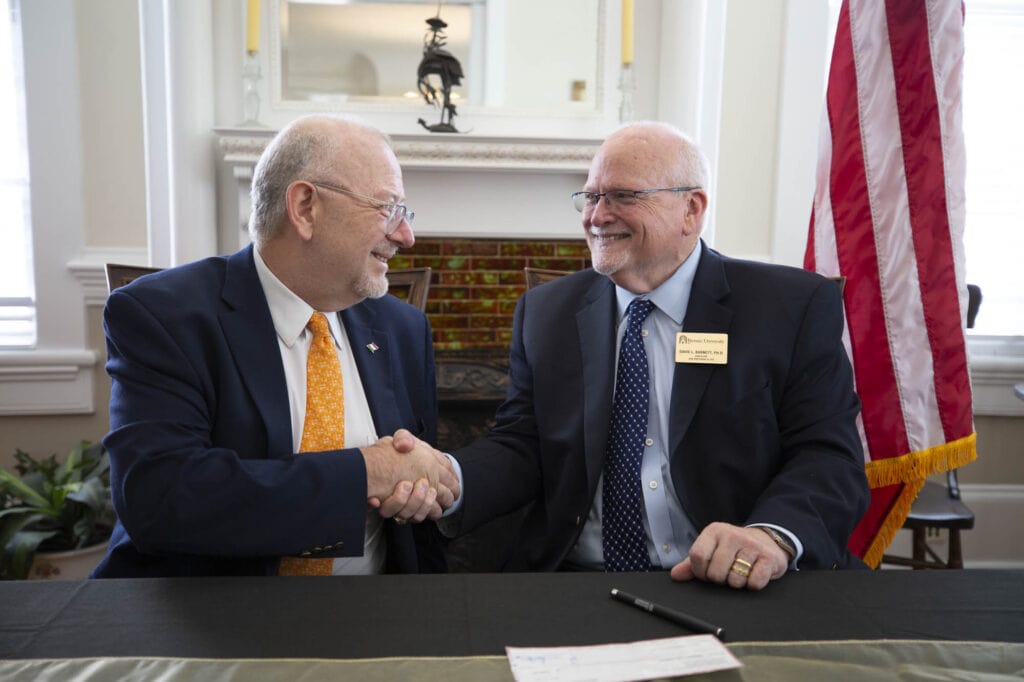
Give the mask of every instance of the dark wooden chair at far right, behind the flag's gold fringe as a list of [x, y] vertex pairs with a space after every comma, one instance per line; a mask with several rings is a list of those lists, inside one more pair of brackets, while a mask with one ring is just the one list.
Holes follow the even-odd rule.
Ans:
[[[968, 285], [967, 326], [974, 327], [978, 307], [981, 305], [981, 289]], [[911, 568], [963, 568], [964, 552], [961, 545], [961, 530], [974, 527], [974, 512], [961, 501], [959, 482], [956, 470], [946, 472], [946, 484], [925, 481], [916, 499], [910, 506], [910, 513], [903, 521], [903, 527], [912, 534], [909, 558], [893, 554], [882, 556], [882, 563]], [[929, 536], [939, 535], [945, 528], [949, 534], [946, 558], [943, 559], [928, 544]]]

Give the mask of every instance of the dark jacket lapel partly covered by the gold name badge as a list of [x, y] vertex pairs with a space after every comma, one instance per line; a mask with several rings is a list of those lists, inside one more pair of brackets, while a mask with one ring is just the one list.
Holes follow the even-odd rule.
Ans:
[[[720, 302], [729, 293], [725, 268], [720, 255], [707, 245], [701, 246], [700, 262], [693, 278], [683, 331], [727, 334], [732, 324], [732, 309]], [[682, 444], [713, 371], [712, 365], [676, 364], [669, 409], [672, 416], [669, 425], [670, 457]], [[672, 459], [675, 461], [675, 458]]]

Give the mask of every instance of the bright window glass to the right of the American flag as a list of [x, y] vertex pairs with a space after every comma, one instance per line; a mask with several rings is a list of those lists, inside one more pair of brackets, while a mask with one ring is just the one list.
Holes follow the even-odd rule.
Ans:
[[1024, 2], [967, 3], [964, 25], [967, 281], [977, 335], [1024, 335]]

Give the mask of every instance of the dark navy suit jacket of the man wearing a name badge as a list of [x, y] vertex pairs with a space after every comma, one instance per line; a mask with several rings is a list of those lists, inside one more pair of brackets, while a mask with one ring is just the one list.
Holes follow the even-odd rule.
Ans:
[[[532, 503], [510, 569], [557, 569], [587, 520], [604, 468], [615, 310], [614, 286], [593, 270], [527, 291], [497, 425], [455, 455], [460, 532]], [[677, 364], [673, 377], [672, 481], [694, 527], [775, 523], [803, 543], [802, 568], [863, 566], [846, 548], [868, 487], [839, 288], [705, 246], [683, 331], [729, 339], [727, 365]]]

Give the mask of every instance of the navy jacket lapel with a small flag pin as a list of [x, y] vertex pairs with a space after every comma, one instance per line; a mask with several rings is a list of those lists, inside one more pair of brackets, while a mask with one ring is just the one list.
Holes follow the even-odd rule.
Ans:
[[391, 376], [391, 353], [399, 352], [391, 336], [375, 329], [375, 312], [365, 302], [342, 310], [341, 324], [345, 326], [348, 342], [352, 347], [355, 367], [359, 370], [362, 390], [367, 394], [370, 414], [380, 436], [391, 435], [400, 426], [395, 406], [394, 381]]

